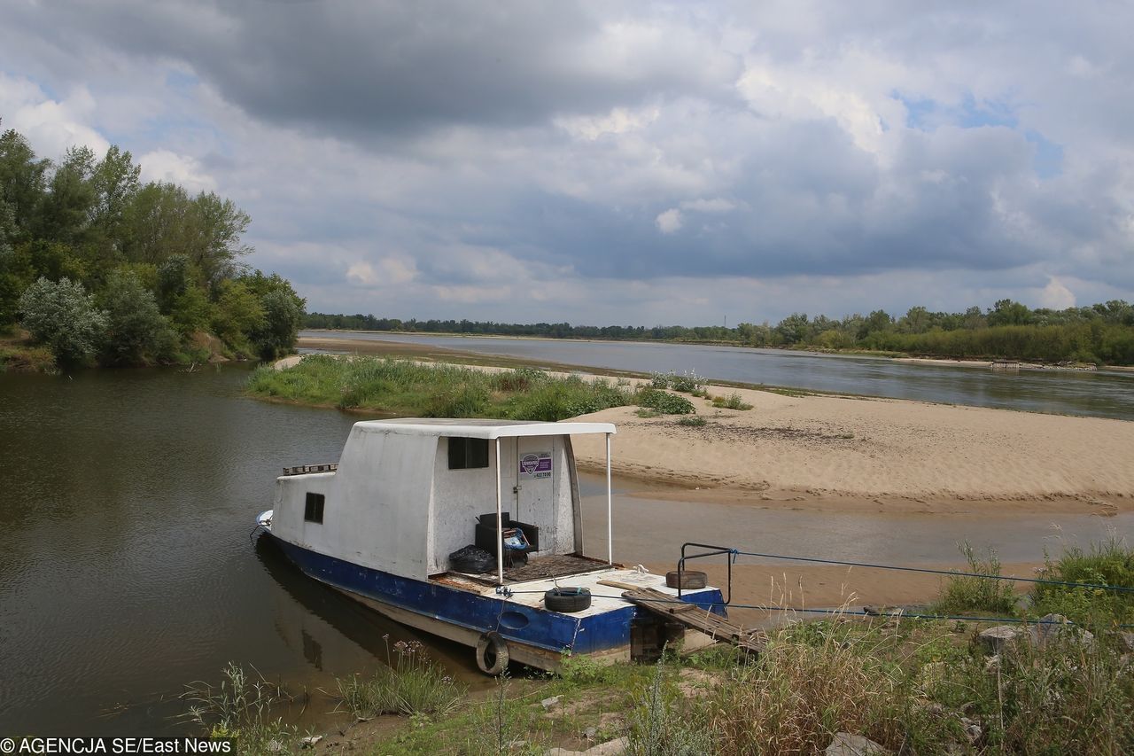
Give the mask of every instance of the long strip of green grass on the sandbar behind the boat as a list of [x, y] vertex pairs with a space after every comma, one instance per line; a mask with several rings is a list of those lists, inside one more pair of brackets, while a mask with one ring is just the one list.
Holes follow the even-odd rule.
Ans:
[[650, 387], [634, 390], [626, 381], [553, 378], [531, 368], [488, 372], [390, 358], [310, 355], [287, 370], [257, 369], [246, 390], [263, 398], [420, 418], [553, 422], [628, 404], [663, 414], [693, 412], [682, 396]]

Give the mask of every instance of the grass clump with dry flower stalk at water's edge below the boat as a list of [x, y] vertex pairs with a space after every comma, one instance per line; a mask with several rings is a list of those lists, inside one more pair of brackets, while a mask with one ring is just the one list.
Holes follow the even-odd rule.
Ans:
[[356, 717], [379, 714], [450, 714], [464, 699], [465, 686], [431, 662], [421, 641], [393, 645], [393, 666], [380, 666], [370, 679], [338, 680], [339, 704]]

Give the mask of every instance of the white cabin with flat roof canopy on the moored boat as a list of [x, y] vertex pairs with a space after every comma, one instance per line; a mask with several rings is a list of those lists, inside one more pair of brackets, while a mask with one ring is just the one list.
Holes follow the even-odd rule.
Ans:
[[[399, 419], [355, 423], [337, 468], [279, 478], [271, 529], [415, 580], [448, 572], [449, 555], [475, 544], [503, 583], [510, 527], [532, 557], [582, 555], [574, 434], [607, 436], [609, 523], [611, 423]], [[609, 528], [606, 551], [609, 563]]]

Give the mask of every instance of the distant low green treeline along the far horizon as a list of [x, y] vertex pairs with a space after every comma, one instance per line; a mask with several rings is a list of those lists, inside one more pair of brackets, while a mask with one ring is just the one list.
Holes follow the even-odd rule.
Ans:
[[1066, 310], [1031, 310], [1000, 300], [982, 311], [931, 312], [911, 308], [894, 318], [882, 310], [835, 320], [794, 313], [778, 324], [725, 326], [572, 326], [474, 320], [399, 320], [372, 314], [308, 313], [307, 328], [423, 334], [482, 334], [612, 341], [720, 342], [838, 351], [900, 352], [958, 359], [1134, 364], [1134, 306], [1120, 300]]

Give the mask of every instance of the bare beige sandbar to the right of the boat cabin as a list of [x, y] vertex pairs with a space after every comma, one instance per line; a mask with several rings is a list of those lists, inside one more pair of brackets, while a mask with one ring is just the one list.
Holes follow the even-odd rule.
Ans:
[[[928, 404], [736, 390], [748, 411], [694, 400], [704, 427], [643, 419], [634, 408], [586, 419], [615, 422], [621, 474], [700, 487], [685, 498], [792, 501], [840, 509], [970, 511], [973, 502], [1114, 513], [1134, 507], [1134, 422]], [[601, 442], [578, 438], [582, 464]]]

